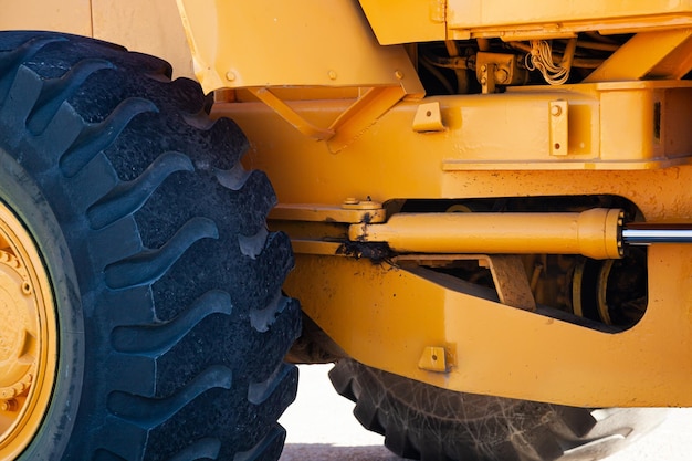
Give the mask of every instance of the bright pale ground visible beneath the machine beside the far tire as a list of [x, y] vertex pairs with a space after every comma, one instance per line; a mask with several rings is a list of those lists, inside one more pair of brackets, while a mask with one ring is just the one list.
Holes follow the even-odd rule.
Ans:
[[[400, 461], [384, 438], [365, 430], [352, 415], [354, 404], [338, 396], [331, 365], [303, 365], [298, 396], [280, 422], [287, 429], [280, 461]], [[692, 460], [692, 409], [674, 409], [668, 420], [607, 461]]]

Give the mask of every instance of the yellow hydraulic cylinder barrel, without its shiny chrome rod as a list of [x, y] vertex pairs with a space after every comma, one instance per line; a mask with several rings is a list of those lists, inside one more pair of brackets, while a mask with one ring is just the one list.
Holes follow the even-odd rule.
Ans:
[[397, 213], [386, 223], [353, 224], [349, 239], [386, 242], [400, 253], [623, 254], [619, 209], [583, 212]]

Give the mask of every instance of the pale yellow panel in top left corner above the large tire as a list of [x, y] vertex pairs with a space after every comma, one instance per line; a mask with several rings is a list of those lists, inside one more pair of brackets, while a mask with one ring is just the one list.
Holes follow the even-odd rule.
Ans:
[[0, 30], [92, 34], [90, 0], [0, 0]]

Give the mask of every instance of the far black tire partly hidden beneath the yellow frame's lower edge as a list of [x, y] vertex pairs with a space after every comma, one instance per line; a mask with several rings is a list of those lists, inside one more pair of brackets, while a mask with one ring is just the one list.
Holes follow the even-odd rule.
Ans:
[[336, 390], [399, 457], [423, 461], [596, 461], [658, 426], [662, 409], [585, 409], [454, 392], [339, 360]]

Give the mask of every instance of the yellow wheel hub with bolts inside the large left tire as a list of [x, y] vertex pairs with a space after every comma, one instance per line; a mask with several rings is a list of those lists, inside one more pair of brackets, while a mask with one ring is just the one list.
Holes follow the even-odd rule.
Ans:
[[49, 408], [57, 328], [49, 279], [33, 240], [0, 202], [0, 459], [17, 458]]

